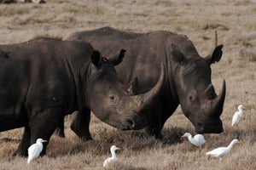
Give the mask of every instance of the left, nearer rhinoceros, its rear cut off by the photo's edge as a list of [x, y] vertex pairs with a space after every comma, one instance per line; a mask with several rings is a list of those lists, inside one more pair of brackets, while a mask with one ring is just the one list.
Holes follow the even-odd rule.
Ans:
[[[113, 67], [124, 55], [122, 49], [106, 59], [88, 42], [50, 38], [0, 45], [0, 132], [25, 127], [14, 155], [27, 156], [27, 148], [38, 138], [49, 141], [73, 111], [79, 111], [76, 123], [87, 126], [90, 110], [122, 130], [147, 126], [143, 111], [159, 94], [164, 67], [147, 93], [126, 94]], [[89, 127], [79, 133], [90, 139]]]

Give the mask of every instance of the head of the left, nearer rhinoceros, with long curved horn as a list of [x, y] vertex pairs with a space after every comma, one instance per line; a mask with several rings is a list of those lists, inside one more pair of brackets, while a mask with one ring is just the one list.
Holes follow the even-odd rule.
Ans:
[[90, 78], [86, 78], [86, 105], [102, 122], [113, 127], [122, 130], [140, 129], [148, 124], [147, 117], [142, 112], [159, 94], [164, 81], [164, 69], [162, 68], [160, 81], [147, 93], [127, 94], [113, 66], [119, 65], [124, 54], [125, 50], [121, 50], [116, 59], [102, 58], [99, 53], [92, 55]]

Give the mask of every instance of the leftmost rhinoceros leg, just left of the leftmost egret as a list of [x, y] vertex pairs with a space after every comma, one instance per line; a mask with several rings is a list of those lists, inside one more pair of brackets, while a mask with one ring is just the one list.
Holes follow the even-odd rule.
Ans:
[[27, 156], [27, 148], [30, 145], [30, 129], [29, 127], [24, 127], [24, 132], [23, 132], [23, 136], [22, 139], [20, 141], [18, 150], [15, 151], [15, 153], [13, 154], [13, 156]]

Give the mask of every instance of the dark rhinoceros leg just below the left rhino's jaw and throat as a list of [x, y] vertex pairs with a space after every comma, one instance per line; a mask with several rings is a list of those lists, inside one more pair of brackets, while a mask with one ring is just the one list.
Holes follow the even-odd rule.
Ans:
[[79, 111], [73, 119], [71, 129], [76, 133], [80, 139], [92, 139], [89, 131], [90, 126], [90, 109]]

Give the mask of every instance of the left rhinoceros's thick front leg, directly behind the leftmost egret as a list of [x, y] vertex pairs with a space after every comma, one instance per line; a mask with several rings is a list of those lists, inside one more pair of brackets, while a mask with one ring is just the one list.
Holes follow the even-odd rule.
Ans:
[[48, 141], [43, 143], [44, 148], [40, 156], [45, 155], [46, 147], [49, 143], [49, 138], [55, 132], [55, 128], [59, 125], [61, 118], [63, 117], [62, 114], [62, 108], [49, 108], [44, 109], [38, 113], [32, 113], [32, 115], [36, 116], [32, 117], [29, 122], [31, 131], [30, 144], [34, 144], [38, 138]]

